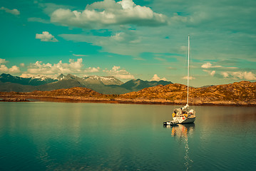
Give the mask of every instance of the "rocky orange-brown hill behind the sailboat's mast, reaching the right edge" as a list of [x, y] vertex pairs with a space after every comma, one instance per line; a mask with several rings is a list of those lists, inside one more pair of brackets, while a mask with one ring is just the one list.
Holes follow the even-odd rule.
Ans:
[[[174, 103], [185, 103], [187, 86], [182, 84], [169, 84], [167, 86], [155, 86], [144, 88], [138, 92], [120, 95], [121, 98], [131, 99], [163, 99]], [[256, 83], [240, 81], [226, 85], [210, 86], [207, 88], [190, 88], [190, 103], [232, 103], [252, 104], [256, 103]]]

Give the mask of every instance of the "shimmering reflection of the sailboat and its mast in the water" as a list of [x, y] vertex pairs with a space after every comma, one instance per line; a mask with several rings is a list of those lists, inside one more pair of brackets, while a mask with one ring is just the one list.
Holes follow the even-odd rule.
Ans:
[[190, 149], [188, 147], [188, 137], [193, 134], [193, 131], [195, 130], [195, 124], [178, 124], [178, 125], [165, 125], [165, 128], [170, 128], [172, 130], [172, 137], [178, 138], [180, 142], [185, 143], [185, 162], [184, 167], [186, 170], [188, 170], [191, 167], [191, 163], [193, 163], [193, 160], [190, 159], [188, 155], [188, 150]]

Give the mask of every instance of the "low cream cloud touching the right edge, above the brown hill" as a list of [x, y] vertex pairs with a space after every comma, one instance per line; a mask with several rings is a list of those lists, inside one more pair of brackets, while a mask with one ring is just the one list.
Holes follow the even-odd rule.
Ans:
[[224, 78], [233, 78], [233, 79], [240, 79], [240, 80], [247, 80], [247, 81], [256, 81], [256, 75], [255, 73], [252, 72], [242, 72], [242, 71], [237, 71], [237, 72], [221, 72], [221, 75]]

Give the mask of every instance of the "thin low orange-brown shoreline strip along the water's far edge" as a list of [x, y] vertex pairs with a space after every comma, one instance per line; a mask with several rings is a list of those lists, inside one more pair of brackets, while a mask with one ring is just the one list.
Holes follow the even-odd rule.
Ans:
[[[57, 103], [116, 103], [116, 104], [142, 104], [142, 105], [185, 105], [184, 100], [170, 101], [164, 99], [130, 99], [130, 98], [93, 98], [83, 96], [39, 96], [39, 95], [0, 95], [0, 101], [5, 102], [57, 102]], [[13, 99], [13, 100], [9, 100]], [[23, 100], [16, 100], [23, 99]], [[256, 103], [231, 102], [231, 101], [212, 101], [192, 103], [191, 105], [215, 105], [215, 106], [256, 106]]]

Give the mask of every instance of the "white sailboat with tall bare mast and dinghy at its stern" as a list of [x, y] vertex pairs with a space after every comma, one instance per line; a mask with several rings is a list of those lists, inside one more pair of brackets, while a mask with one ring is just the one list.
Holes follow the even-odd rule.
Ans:
[[[190, 36], [188, 35], [188, 88], [189, 88], [189, 75], [190, 75]], [[188, 105], [189, 91], [187, 97], [187, 104], [183, 108], [175, 108], [173, 110], [173, 120], [165, 121], [163, 125], [175, 125], [178, 123], [194, 123], [195, 110], [190, 109]]]

